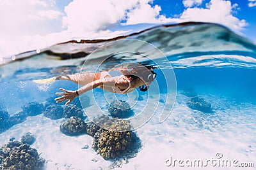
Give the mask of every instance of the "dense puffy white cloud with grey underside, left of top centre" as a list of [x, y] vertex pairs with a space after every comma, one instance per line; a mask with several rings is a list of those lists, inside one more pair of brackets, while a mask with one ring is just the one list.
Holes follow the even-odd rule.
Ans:
[[88, 34], [116, 24], [124, 17], [125, 10], [114, 1], [74, 0], [65, 7], [67, 16], [63, 18], [63, 24], [73, 34]]

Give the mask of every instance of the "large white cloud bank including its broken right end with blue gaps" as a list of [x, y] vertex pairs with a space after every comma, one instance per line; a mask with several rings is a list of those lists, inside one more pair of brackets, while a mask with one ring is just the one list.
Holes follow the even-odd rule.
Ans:
[[65, 7], [63, 18], [68, 31], [75, 34], [106, 30], [120, 24], [170, 22], [159, 15], [160, 6], [151, 6], [151, 0], [74, 0]]

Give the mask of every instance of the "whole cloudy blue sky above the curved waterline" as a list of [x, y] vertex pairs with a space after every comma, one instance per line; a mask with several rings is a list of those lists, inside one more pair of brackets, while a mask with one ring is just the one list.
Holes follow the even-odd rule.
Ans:
[[255, 13], [256, 0], [1, 0], [0, 58], [189, 21], [225, 25], [255, 43]]

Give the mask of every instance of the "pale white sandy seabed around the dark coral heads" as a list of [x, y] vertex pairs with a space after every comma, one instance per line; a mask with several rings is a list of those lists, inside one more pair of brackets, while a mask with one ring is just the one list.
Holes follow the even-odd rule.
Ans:
[[[20, 141], [23, 134], [31, 132], [36, 136], [31, 147], [46, 160], [45, 169], [187, 169], [190, 160], [202, 160], [204, 169], [234, 169], [236, 165], [236, 169], [244, 169], [239, 167], [241, 163], [250, 162], [254, 167], [246, 169], [255, 169], [256, 106], [223, 96], [201, 97], [211, 102], [214, 113], [191, 110], [186, 106], [189, 97], [178, 92], [173, 111], [165, 122], [159, 124], [160, 113], [156, 113], [147, 124], [136, 129], [141, 148], [131, 159], [104, 160], [93, 150], [91, 136], [66, 136], [60, 131], [64, 118], [51, 120], [42, 114], [28, 117], [3, 132], [0, 144], [10, 138]], [[220, 160], [230, 160], [230, 167], [219, 165]], [[238, 160], [236, 165], [232, 164], [234, 160]]]

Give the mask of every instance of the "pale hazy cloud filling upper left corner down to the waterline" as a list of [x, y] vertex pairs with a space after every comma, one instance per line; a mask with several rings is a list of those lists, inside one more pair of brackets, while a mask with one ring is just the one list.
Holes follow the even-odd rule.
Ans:
[[63, 13], [52, 10], [53, 3], [54, 0], [0, 1], [0, 57], [35, 50], [31, 42], [42, 44], [38, 35], [61, 31]]

